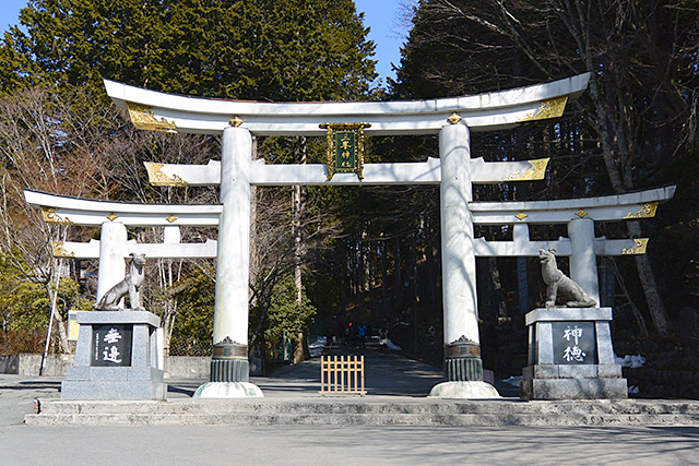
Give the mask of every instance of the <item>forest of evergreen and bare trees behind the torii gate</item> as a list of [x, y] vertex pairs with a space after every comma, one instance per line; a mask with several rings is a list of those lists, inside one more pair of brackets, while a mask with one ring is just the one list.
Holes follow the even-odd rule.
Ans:
[[[473, 135], [473, 154], [486, 160], [552, 157], [545, 180], [477, 187], [474, 198], [676, 184], [654, 218], [596, 226], [599, 236], [651, 238], [645, 255], [600, 260], [602, 303], [615, 309], [617, 350], [696, 342], [687, 328], [699, 322], [699, 0], [423, 0], [406, 3], [404, 16], [410, 36], [396, 77], [372, 85], [375, 45], [351, 0], [31, 1], [0, 44], [0, 350], [42, 347], [55, 308], [51, 347], [69, 353], [68, 310], [95, 298], [97, 264], [56, 260], [50, 241], [99, 231], [45, 224], [24, 189], [217, 202], [214, 189], [150, 186], [143, 162], [205, 164], [220, 158], [220, 139], [135, 130], [102, 77], [192, 96], [307, 101], [477, 94], [588, 71], [588, 91], [561, 119]], [[258, 138], [254, 151], [276, 164], [324, 157], [321, 138]], [[438, 144], [369, 138], [367, 152], [368, 162], [416, 162], [438, 156]], [[289, 358], [300, 361], [309, 334], [340, 336], [359, 322], [388, 325], [407, 354], [441, 363], [437, 189], [258, 188], [252, 211], [253, 350], [271, 362], [294, 342]], [[506, 239], [511, 230], [477, 234]], [[129, 235], [162, 239], [152, 228]], [[541, 227], [532, 236], [566, 232]], [[215, 237], [183, 230], [187, 241]], [[499, 374], [519, 373], [522, 315], [542, 302], [537, 263], [484, 259], [477, 268], [484, 360]], [[147, 262], [145, 306], [163, 318], [170, 354], [211, 354], [214, 271], [204, 260]], [[486, 358], [498, 354], [507, 358]]]

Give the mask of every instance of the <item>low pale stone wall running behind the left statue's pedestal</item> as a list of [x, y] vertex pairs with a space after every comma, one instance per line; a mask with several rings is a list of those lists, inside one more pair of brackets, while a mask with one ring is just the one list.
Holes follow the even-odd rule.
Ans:
[[[48, 355], [44, 375], [63, 377], [73, 365], [72, 355]], [[38, 375], [42, 355], [0, 356], [0, 373]], [[211, 357], [170, 356], [165, 358], [165, 379], [209, 379]]]

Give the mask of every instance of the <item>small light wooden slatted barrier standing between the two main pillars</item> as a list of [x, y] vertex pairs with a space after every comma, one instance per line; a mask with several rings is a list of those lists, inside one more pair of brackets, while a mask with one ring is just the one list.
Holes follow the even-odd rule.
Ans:
[[366, 395], [364, 356], [321, 356], [320, 392], [327, 394]]

